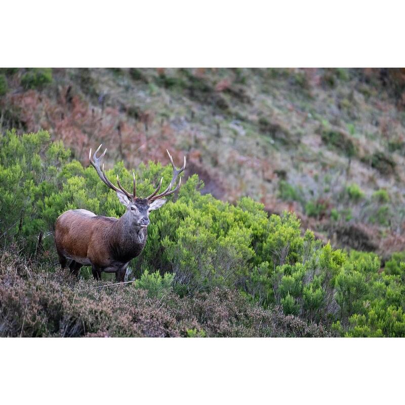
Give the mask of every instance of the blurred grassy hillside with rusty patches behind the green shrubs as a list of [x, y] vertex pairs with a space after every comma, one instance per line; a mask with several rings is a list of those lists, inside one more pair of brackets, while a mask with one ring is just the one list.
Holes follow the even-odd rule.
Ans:
[[86, 166], [187, 154], [203, 193], [294, 211], [335, 247], [405, 249], [401, 69], [3, 69], [0, 125]]

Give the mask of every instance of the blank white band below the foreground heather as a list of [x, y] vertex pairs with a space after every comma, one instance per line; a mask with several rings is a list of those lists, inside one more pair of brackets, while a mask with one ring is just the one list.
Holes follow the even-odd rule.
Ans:
[[[3, 403], [393, 403], [403, 339], [2, 339]], [[4, 401], [6, 399], [6, 401]]]

